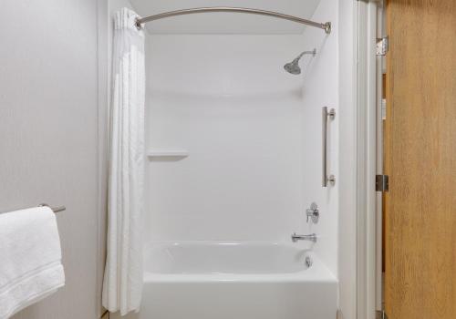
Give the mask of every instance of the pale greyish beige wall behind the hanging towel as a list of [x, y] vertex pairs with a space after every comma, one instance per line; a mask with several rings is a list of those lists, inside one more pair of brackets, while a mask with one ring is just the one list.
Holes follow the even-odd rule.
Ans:
[[2, 1], [0, 211], [67, 206], [57, 215], [67, 284], [15, 319], [100, 316], [106, 156], [98, 152], [98, 104], [106, 98], [98, 90], [106, 85], [98, 85], [98, 67], [106, 63], [98, 60], [98, 5]]

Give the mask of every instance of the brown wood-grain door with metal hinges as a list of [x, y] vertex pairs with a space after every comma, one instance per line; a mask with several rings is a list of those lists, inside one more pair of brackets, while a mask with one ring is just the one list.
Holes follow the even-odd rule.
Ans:
[[456, 318], [456, 0], [389, 0], [385, 305]]

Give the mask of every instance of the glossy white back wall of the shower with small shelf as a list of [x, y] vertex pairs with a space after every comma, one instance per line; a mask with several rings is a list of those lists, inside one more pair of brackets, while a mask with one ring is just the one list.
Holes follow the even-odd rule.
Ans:
[[190, 151], [148, 161], [150, 239], [290, 241], [305, 219], [308, 106], [283, 66], [304, 37], [149, 39], [148, 148]]

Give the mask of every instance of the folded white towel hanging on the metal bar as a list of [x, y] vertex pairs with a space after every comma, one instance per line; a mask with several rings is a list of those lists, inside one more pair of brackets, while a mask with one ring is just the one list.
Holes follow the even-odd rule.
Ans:
[[36, 207], [0, 214], [0, 319], [65, 284], [53, 211]]

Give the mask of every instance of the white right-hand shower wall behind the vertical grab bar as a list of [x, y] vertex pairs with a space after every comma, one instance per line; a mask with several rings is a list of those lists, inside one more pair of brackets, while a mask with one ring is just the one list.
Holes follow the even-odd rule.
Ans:
[[[338, 273], [338, 190], [339, 174], [339, 123], [345, 109], [339, 108], [338, 78], [338, 6], [331, 0], [322, 0], [316, 8], [313, 19], [327, 19], [333, 23], [330, 36], [322, 36], [316, 28], [308, 27], [304, 33], [307, 46], [316, 47], [318, 57], [307, 67], [303, 84], [303, 136], [315, 136], [316, 139], [305, 139], [304, 149], [315, 149], [316, 157], [304, 156], [305, 173], [303, 178], [304, 202], [316, 201], [322, 211], [320, 222], [310, 225], [306, 232], [316, 232], [321, 240], [315, 247], [316, 253], [330, 268]], [[321, 108], [335, 108], [336, 118], [328, 124], [328, 175], [336, 176], [335, 185], [322, 188], [315, 180], [321, 180]], [[309, 182], [308, 180], [312, 180]]]

